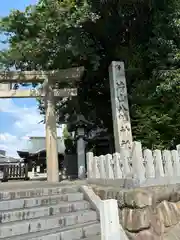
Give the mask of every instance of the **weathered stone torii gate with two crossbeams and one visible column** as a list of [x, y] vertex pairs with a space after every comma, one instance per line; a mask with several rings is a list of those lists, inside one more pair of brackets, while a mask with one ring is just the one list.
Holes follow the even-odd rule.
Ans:
[[[0, 72], [0, 98], [37, 98], [45, 99], [46, 161], [47, 181], [59, 182], [57, 129], [55, 114], [55, 97], [77, 95], [76, 88], [55, 89], [56, 83], [69, 84], [78, 81], [84, 68], [71, 68], [57, 71], [8, 71]], [[42, 83], [40, 89], [12, 90], [12, 83]], [[33, 117], [33, 116], [32, 116]]]

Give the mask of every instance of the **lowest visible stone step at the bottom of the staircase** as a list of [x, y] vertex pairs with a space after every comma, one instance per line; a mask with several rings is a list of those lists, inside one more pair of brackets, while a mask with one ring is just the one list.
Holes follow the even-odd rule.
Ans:
[[[96, 237], [100, 234], [100, 223], [91, 221], [62, 228], [29, 233], [21, 236], [8, 237], [3, 240], [79, 240], [89, 236]], [[99, 239], [98, 239], [99, 240]]]

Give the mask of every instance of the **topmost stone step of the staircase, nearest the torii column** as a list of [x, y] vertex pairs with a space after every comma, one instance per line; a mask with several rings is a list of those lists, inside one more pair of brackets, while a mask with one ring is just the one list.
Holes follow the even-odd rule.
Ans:
[[38, 187], [38, 188], [29, 188], [29, 189], [16, 189], [15, 191], [1, 191], [0, 192], [0, 201], [3, 200], [14, 200], [20, 198], [33, 198], [40, 196], [52, 196], [57, 194], [64, 193], [75, 193], [78, 192], [78, 186], [55, 186], [55, 187]]

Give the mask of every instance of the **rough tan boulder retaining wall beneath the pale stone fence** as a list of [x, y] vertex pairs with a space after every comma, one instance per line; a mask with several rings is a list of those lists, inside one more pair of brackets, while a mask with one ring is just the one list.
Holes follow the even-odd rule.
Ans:
[[129, 239], [180, 239], [180, 184], [118, 189], [93, 187], [102, 199], [117, 199]]

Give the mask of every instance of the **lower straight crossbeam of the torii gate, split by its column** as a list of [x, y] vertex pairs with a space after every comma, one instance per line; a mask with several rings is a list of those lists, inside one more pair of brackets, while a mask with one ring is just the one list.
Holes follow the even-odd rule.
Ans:
[[[9, 91], [0, 91], [0, 98], [37, 98], [44, 97], [45, 93], [38, 89], [17, 89]], [[54, 89], [55, 97], [73, 97], [77, 96], [76, 88]]]

